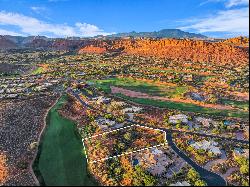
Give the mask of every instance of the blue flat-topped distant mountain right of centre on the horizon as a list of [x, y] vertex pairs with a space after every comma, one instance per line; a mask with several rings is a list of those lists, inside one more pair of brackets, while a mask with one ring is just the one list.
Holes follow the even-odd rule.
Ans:
[[107, 37], [148, 37], [148, 38], [201, 38], [206, 39], [207, 36], [185, 32], [180, 29], [163, 29], [154, 32], [128, 32], [108, 35]]

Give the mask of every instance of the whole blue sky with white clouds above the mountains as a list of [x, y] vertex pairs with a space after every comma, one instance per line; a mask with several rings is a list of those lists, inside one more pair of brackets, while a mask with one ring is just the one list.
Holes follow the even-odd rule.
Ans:
[[161, 29], [249, 36], [249, 0], [0, 0], [0, 35], [91, 37]]

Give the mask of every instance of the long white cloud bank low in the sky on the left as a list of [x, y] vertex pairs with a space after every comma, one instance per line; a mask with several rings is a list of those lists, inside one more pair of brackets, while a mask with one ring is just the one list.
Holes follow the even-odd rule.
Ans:
[[0, 11], [0, 25], [17, 26], [20, 28], [21, 32], [28, 35], [89, 37], [110, 34], [104, 32], [95, 25], [87, 23], [76, 23], [75, 26], [69, 26], [67, 24], [51, 24], [33, 17], [5, 11]]

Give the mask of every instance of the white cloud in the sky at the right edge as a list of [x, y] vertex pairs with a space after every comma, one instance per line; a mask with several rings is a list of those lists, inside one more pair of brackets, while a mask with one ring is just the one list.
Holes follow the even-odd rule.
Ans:
[[200, 33], [228, 32], [249, 35], [249, 8], [219, 11], [216, 15], [187, 20], [187, 23], [189, 25], [180, 29], [193, 29]]

